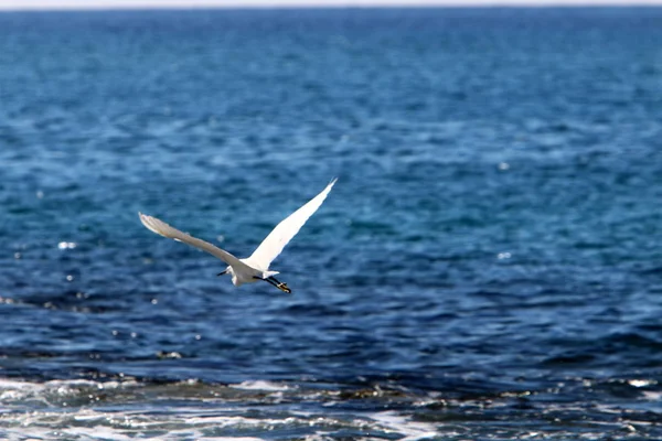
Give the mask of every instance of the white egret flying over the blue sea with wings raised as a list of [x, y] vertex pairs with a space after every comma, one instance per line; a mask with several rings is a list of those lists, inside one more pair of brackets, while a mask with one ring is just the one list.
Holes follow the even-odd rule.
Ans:
[[231, 275], [232, 283], [235, 287], [239, 287], [243, 283], [252, 283], [258, 280], [264, 280], [281, 291], [291, 293], [292, 291], [286, 283], [282, 283], [274, 278], [274, 276], [278, 275], [279, 272], [270, 271], [269, 265], [271, 265], [271, 261], [278, 257], [291, 238], [299, 233], [299, 229], [301, 229], [303, 224], [306, 224], [306, 220], [308, 220], [308, 218], [312, 216], [314, 212], [317, 212], [320, 205], [322, 205], [322, 202], [324, 202], [327, 198], [327, 195], [333, 187], [333, 184], [335, 184], [335, 179], [331, 181], [320, 194], [314, 196], [295, 213], [282, 219], [280, 224], [276, 225], [276, 228], [274, 228], [267, 238], [259, 244], [250, 257], [245, 259], [238, 259], [229, 252], [216, 247], [215, 245], [180, 232], [179, 229], [171, 227], [156, 217], [148, 216], [142, 213], [138, 213], [138, 215], [140, 216], [140, 222], [142, 222], [142, 225], [153, 233], [163, 237], [182, 241], [191, 245], [192, 247], [200, 248], [203, 251], [206, 251], [223, 260], [225, 263], [227, 263], [227, 268], [223, 272], [218, 273], [218, 276], [225, 273]]

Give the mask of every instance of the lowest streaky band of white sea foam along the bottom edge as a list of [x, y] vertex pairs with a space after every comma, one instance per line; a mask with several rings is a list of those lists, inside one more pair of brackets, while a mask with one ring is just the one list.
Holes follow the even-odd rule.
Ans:
[[[93, 408], [49, 409], [30, 412], [9, 412], [0, 416], [0, 427], [17, 428], [19, 431], [4, 430], [3, 434], [10, 441], [33, 439], [75, 439], [92, 441], [109, 439], [130, 441], [145, 435], [145, 432], [160, 432], [159, 440], [174, 441], [180, 439], [255, 441], [257, 438], [245, 431], [255, 430], [289, 430], [288, 428], [308, 428], [312, 433], [301, 433], [310, 441], [329, 439], [334, 430], [349, 428], [364, 432], [380, 430], [398, 434], [404, 440], [423, 440], [437, 433], [431, 424], [412, 421], [406, 416], [395, 412], [380, 412], [367, 418], [333, 418], [328, 416], [291, 415], [285, 418], [249, 418], [236, 415], [236, 408], [197, 408], [184, 406], [168, 408], [164, 413], [154, 412], [153, 408], [131, 411], [111, 411]], [[331, 432], [330, 428], [333, 428]], [[210, 437], [210, 430], [228, 432], [228, 435]], [[244, 432], [244, 433], [242, 433]], [[252, 434], [252, 433], [250, 433]], [[235, 437], [232, 437], [235, 435]]]

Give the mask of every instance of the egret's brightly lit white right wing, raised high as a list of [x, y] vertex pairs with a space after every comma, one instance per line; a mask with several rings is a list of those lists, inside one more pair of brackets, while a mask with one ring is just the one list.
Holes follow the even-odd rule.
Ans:
[[276, 228], [269, 233], [267, 238], [259, 244], [259, 247], [257, 247], [253, 255], [246, 260], [263, 271], [268, 270], [271, 261], [278, 257], [282, 251], [282, 248], [285, 248], [291, 238], [299, 233], [299, 229], [306, 224], [306, 220], [308, 220], [308, 218], [318, 211], [320, 205], [322, 205], [322, 202], [327, 198], [327, 195], [333, 187], [333, 184], [335, 184], [335, 181], [337, 179], [331, 181], [320, 194], [308, 201], [306, 205], [295, 213], [280, 220], [280, 224], [276, 225]]

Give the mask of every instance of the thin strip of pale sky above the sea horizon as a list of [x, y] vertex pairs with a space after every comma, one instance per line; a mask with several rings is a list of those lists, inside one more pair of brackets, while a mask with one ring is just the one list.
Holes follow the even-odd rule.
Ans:
[[0, 0], [0, 10], [372, 6], [631, 6], [662, 0]]

